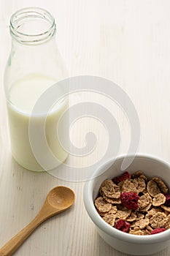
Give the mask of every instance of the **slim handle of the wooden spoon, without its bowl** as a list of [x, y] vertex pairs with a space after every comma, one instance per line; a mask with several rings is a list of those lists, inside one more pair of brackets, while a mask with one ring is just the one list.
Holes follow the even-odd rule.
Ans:
[[48, 219], [50, 216], [44, 216], [42, 211], [39, 211], [39, 214], [22, 230], [15, 236], [13, 236], [7, 244], [0, 249], [0, 256], [11, 256], [18, 247], [23, 244], [23, 242], [31, 235], [31, 233], [38, 227], [42, 222]]

